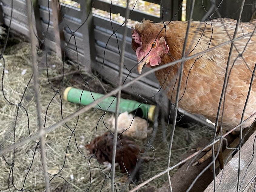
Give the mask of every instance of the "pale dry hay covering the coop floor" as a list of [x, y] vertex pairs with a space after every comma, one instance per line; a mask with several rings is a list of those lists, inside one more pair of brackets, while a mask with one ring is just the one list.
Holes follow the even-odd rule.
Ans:
[[[46, 59], [44, 58], [46, 58], [45, 52], [39, 50], [39, 89], [41, 93], [42, 119], [45, 128], [47, 128], [61, 120], [62, 117], [77, 111], [79, 105], [62, 100], [62, 95], [55, 91], [60, 88], [60, 83], [51, 84], [55, 90], [51, 88], [47, 80]], [[32, 71], [29, 43], [23, 42], [8, 48], [5, 51], [4, 59], [5, 73], [2, 88], [6, 99], [10, 103], [18, 104], [23, 97], [26, 87], [27, 89], [20, 103], [22, 107], [8, 103], [3, 94], [0, 94], [1, 148], [13, 144], [14, 138], [15, 142], [18, 142], [29, 137], [29, 134], [33, 135], [38, 131], [33, 81], [30, 81]], [[60, 76], [60, 71], [63, 71], [63, 65], [65, 65], [65, 68], [72, 70], [70, 66], [64, 64], [54, 54], [48, 54], [47, 61], [49, 79]], [[3, 60], [1, 59], [0, 62], [0, 70], [3, 71]], [[70, 76], [64, 76], [64, 84], [60, 93], [63, 92], [65, 87], [70, 86], [70, 80]], [[30, 83], [28, 84], [29, 81]], [[108, 131], [107, 127], [110, 127], [104, 122], [108, 122], [110, 117], [111, 113], [91, 109], [81, 114], [79, 118], [74, 118], [45, 135], [45, 152], [52, 191], [85, 191], [87, 189], [89, 191], [110, 191], [110, 174], [108, 172], [102, 173], [102, 170], [107, 166], [98, 164], [95, 158], [90, 158], [88, 151], [84, 147], [96, 135]], [[211, 132], [209, 129], [201, 128], [197, 125], [191, 126], [188, 129], [176, 127], [171, 165], [180, 161], [179, 157], [186, 153], [189, 147], [201, 137], [209, 136], [209, 132]], [[155, 160], [151, 159], [142, 162], [141, 181], [145, 181], [161, 170], [165, 170], [168, 154], [167, 141], [169, 141], [170, 133], [171, 125], [166, 128], [165, 133], [159, 129], [155, 141], [151, 143], [151, 147], [146, 144], [147, 138], [136, 141], [141, 147], [145, 145], [145, 154], [143, 155], [155, 157]], [[167, 140], [162, 137], [163, 134], [166, 135]], [[191, 138], [189, 144], [185, 141], [187, 135], [190, 135]], [[38, 140], [29, 142], [17, 147], [15, 152], [12, 150], [4, 154], [3, 157], [0, 157], [0, 191], [16, 191], [17, 189], [30, 191], [44, 190], [45, 184], [40, 148], [37, 142]], [[14, 163], [13, 167], [12, 163]], [[171, 171], [172, 173], [173, 171]], [[108, 176], [106, 176], [107, 174]], [[115, 187], [118, 191], [123, 187], [124, 191], [132, 188], [132, 185], [126, 184], [123, 181], [123, 176], [124, 174], [117, 168]], [[151, 181], [150, 185], [160, 187], [166, 180], [167, 177], [164, 175]], [[140, 191], [145, 190], [147, 186]]]

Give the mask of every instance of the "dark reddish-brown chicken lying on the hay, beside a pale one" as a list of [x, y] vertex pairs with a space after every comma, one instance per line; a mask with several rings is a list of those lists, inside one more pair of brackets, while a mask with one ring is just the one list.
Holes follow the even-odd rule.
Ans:
[[[118, 133], [116, 146], [115, 162], [120, 165], [121, 172], [126, 173], [126, 170], [131, 174], [133, 181], [139, 180], [139, 167], [136, 167], [137, 162], [140, 162], [140, 149], [129, 137], [125, 137]], [[103, 135], [96, 137], [90, 144], [85, 147], [90, 151], [90, 154], [95, 154], [99, 163], [104, 161], [112, 162], [113, 154], [113, 138], [114, 134], [105, 132]]]

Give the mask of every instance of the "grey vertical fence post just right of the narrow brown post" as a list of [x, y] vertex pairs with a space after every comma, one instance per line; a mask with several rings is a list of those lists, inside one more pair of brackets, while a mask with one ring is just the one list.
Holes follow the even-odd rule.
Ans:
[[[83, 66], [85, 66], [84, 68], [85, 71], [88, 71], [88, 72], [91, 71], [91, 61], [95, 60], [95, 55], [96, 55], [94, 25], [92, 20], [92, 13], [90, 12], [91, 2], [92, 2], [91, 0], [80, 1], [83, 43], [84, 43], [84, 61], [83, 61], [84, 65]], [[88, 15], [89, 12], [90, 14]]]

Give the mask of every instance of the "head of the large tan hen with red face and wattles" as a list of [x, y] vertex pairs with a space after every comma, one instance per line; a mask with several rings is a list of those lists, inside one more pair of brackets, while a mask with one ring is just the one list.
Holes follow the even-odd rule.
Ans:
[[164, 34], [163, 25], [145, 19], [132, 28], [132, 48], [136, 51], [139, 74], [145, 66], [159, 65], [161, 57], [168, 53]]

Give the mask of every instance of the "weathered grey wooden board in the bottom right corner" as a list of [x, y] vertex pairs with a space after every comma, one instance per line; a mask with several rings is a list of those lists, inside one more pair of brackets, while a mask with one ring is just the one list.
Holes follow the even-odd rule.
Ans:
[[[254, 154], [256, 152], [254, 149], [255, 137], [256, 132], [249, 137], [241, 148], [239, 191], [249, 191], [248, 188], [250, 184], [254, 183], [254, 180], [251, 179], [256, 173], [256, 159], [254, 158]], [[216, 177], [216, 191], [237, 191], [238, 161], [239, 157], [237, 152]], [[204, 192], [210, 191], [214, 191], [213, 181], [204, 190]]]

